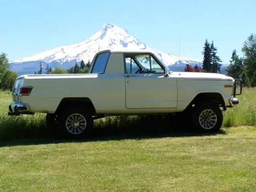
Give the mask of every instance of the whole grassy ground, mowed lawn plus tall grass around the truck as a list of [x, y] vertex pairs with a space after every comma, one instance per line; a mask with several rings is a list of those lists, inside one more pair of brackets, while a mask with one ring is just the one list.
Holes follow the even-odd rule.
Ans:
[[[2, 92], [0, 191], [256, 191], [255, 93], [244, 90], [217, 134], [137, 134], [142, 121], [107, 118], [92, 138], [65, 141], [40, 138], [51, 135], [45, 114], [7, 116], [11, 95]], [[111, 130], [127, 130], [124, 122], [130, 131]]]

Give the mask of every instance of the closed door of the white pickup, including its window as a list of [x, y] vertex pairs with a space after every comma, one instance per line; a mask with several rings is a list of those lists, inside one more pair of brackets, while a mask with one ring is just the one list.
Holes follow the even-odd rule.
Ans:
[[126, 108], [176, 108], [177, 78], [164, 76], [164, 69], [151, 54], [125, 55]]

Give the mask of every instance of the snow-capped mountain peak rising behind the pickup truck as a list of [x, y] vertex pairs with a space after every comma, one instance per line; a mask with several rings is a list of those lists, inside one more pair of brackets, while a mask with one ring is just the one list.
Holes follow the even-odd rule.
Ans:
[[[172, 54], [154, 50], [138, 40], [128, 32], [114, 24], [104, 24], [96, 34], [84, 42], [73, 44], [70, 46], [61, 46], [48, 50], [31, 57], [14, 60], [11, 62], [11, 69], [22, 74], [34, 74], [39, 69], [39, 63], [42, 61], [43, 67], [49, 64], [52, 68], [62, 66], [70, 68], [76, 62], [84, 60], [92, 60], [94, 55], [105, 49], [128, 49], [128, 50], [149, 50], [154, 52], [167, 66], [170, 66], [174, 71], [181, 71], [185, 64], [199, 66], [202, 61], [193, 58], [178, 57]], [[180, 66], [179, 68], [179, 60]]]

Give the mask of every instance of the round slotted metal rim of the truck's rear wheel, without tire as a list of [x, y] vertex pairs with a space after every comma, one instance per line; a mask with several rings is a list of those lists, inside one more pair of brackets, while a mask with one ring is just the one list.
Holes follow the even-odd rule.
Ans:
[[66, 128], [72, 134], [80, 134], [86, 128], [86, 119], [79, 113], [70, 115], [66, 120]]

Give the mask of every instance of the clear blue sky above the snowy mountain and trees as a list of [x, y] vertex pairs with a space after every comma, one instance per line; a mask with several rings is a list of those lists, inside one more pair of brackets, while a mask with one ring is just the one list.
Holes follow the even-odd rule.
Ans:
[[10, 60], [84, 41], [104, 23], [128, 31], [148, 46], [202, 59], [207, 38], [223, 63], [233, 49], [242, 56], [256, 34], [256, 0], [4, 0], [0, 4], [0, 52]]

